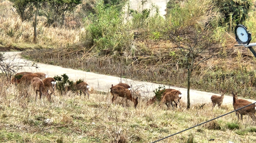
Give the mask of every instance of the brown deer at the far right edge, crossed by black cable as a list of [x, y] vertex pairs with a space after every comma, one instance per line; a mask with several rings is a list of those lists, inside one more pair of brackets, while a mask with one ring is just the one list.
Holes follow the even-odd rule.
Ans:
[[[244, 99], [237, 99], [237, 93], [234, 94], [234, 92], [232, 92], [232, 95], [233, 95], [233, 107], [234, 109], [239, 109], [241, 107], [244, 107], [244, 106], [247, 106], [249, 104], [252, 104], [252, 102], [250, 101], [247, 101], [247, 100], [244, 100]], [[236, 111], [236, 115], [237, 115], [237, 118], [239, 120], [239, 114], [241, 115], [241, 120], [243, 121], [243, 115], [249, 115], [253, 121], [256, 121], [256, 116], [255, 116], [255, 107], [256, 105], [255, 104], [252, 104], [248, 107], [245, 107], [243, 109], [240, 109], [238, 111]]]

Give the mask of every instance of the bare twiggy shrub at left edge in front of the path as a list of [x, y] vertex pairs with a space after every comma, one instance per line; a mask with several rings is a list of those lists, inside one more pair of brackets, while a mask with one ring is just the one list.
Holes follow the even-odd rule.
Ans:
[[0, 53], [0, 70], [6, 76], [9, 83], [16, 72], [24, 69], [24, 67], [38, 68], [37, 64], [34, 62], [20, 59], [17, 55], [4, 57], [3, 54]]

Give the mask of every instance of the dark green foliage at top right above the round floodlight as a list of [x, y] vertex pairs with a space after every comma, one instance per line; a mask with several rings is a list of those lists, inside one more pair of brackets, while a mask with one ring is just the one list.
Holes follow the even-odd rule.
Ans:
[[223, 14], [220, 24], [229, 23], [228, 25], [232, 27], [241, 24], [248, 18], [248, 12], [252, 6], [251, 0], [215, 0], [215, 3]]

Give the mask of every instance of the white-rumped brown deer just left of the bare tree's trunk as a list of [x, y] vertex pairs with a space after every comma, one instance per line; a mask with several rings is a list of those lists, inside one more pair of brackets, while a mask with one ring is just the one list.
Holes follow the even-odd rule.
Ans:
[[[170, 103], [172, 105], [172, 107], [174, 108], [172, 102], [175, 102], [176, 104], [176, 108], [177, 108], [177, 105], [179, 104], [180, 106], [180, 99], [182, 97], [182, 94], [180, 93], [179, 90], [172, 90], [171, 92], [169, 93], [166, 93], [166, 95], [164, 95], [162, 101], [161, 101], [161, 105], [163, 103], [166, 104], [167, 106], [167, 109], [169, 109], [169, 106], [168, 106], [168, 103]], [[181, 106], [180, 106], [181, 108]]]

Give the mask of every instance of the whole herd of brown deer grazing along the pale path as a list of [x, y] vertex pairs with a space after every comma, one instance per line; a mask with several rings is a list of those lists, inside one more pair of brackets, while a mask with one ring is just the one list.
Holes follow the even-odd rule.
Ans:
[[[11, 81], [13, 84], [21, 84], [25, 87], [31, 86], [33, 90], [35, 91], [35, 100], [37, 100], [37, 95], [39, 93], [39, 98], [42, 98], [42, 95], [46, 95], [48, 98], [48, 101], [51, 101], [51, 95], [54, 94], [55, 88], [56, 88], [56, 81], [55, 79], [48, 77], [44, 73], [30, 73], [30, 72], [21, 72], [17, 73]], [[86, 94], [88, 95], [88, 99], [90, 97], [90, 94], [88, 91], [90, 91], [90, 86], [86, 82], [81, 82], [79, 84], [74, 83], [73, 88], [75, 90], [81, 90], [86, 97]], [[66, 92], [70, 91], [70, 87], [66, 87]], [[50, 94], [49, 94], [50, 91]], [[177, 108], [179, 106], [181, 108], [180, 99], [182, 97], [182, 94], [179, 90], [174, 89], [164, 89], [164, 91], [160, 90], [161, 94], [161, 104], [160, 107], [162, 107], [163, 104], [166, 104], [167, 109], [169, 109], [169, 104], [172, 105], [173, 108]], [[128, 84], [120, 82], [119, 84], [116, 84], [113, 86], [111, 85], [110, 93], [113, 95], [111, 101], [114, 103], [116, 101], [117, 97], [125, 98], [126, 103], [128, 100], [132, 101], [134, 104], [134, 107], [136, 108], [138, 105], [138, 96], [136, 98], [133, 97], [134, 93], [136, 91], [132, 90], [131, 87]], [[221, 90], [221, 96], [218, 95], [212, 95], [211, 101], [212, 101], [212, 109], [218, 105], [218, 107], [221, 107], [221, 104], [224, 99], [224, 94], [226, 93], [226, 90]], [[136, 94], [135, 94], [136, 95]], [[244, 99], [238, 99], [237, 93], [235, 94], [232, 92], [233, 95], [233, 107], [234, 109], [239, 109], [241, 107], [247, 106], [249, 104], [252, 104], [252, 102], [244, 100]], [[157, 97], [154, 96], [149, 101], [147, 101], [146, 105], [154, 104], [157, 100]], [[175, 103], [175, 106], [173, 105], [173, 102]], [[241, 115], [241, 120], [243, 120], [243, 115], [249, 115], [253, 121], [256, 121], [256, 105], [252, 104], [248, 107], [245, 107], [243, 109], [240, 109], [236, 111], [236, 115], [239, 120], [239, 116]]]

